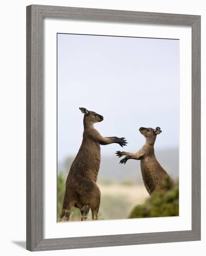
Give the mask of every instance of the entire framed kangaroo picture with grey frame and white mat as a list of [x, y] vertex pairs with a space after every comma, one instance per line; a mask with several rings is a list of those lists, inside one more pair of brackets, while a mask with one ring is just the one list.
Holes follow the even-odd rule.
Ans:
[[200, 16], [26, 12], [26, 248], [200, 240]]

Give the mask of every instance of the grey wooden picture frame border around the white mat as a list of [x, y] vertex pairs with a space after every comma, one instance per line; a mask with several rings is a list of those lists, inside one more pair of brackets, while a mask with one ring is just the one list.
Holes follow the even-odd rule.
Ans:
[[[192, 28], [192, 230], [43, 238], [43, 20], [64, 18]], [[30, 251], [200, 240], [200, 16], [31, 5], [26, 7], [26, 249]]]

